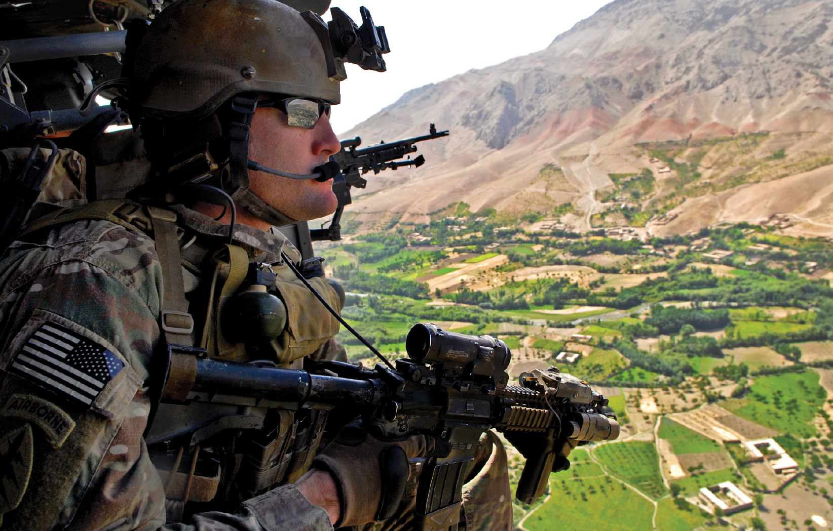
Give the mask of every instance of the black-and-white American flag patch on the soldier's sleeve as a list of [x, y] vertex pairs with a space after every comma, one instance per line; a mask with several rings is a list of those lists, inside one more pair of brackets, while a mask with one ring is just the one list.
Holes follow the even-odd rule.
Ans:
[[27, 380], [87, 406], [123, 368], [102, 345], [53, 322], [32, 334], [11, 367]]

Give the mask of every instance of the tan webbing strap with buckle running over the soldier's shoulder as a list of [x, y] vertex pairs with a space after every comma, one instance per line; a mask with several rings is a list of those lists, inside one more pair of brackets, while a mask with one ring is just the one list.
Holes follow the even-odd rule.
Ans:
[[72, 221], [104, 220], [130, 231], [141, 231], [156, 243], [162, 266], [162, 312], [159, 325], [168, 345], [192, 346], [194, 320], [182, 284], [182, 256], [177, 239], [177, 213], [156, 206], [142, 206], [126, 199], [107, 199], [73, 208], [61, 208], [29, 224], [27, 236]]

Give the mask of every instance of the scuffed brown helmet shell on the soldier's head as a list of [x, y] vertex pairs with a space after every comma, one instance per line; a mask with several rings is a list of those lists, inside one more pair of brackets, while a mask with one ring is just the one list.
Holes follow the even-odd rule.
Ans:
[[324, 53], [307, 19], [281, 2], [180, 0], [137, 47], [131, 106], [185, 118], [205, 117], [242, 92], [338, 103], [338, 81], [328, 75]]

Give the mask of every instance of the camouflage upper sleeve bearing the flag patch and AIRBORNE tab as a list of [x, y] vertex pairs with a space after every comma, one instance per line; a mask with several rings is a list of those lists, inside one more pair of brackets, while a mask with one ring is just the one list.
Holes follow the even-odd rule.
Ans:
[[[0, 263], [0, 446], [22, 429], [32, 453], [14, 473], [15, 503], [0, 505], [4, 529], [77, 522], [113, 459], [125, 492], [159, 484], [142, 469], [147, 400], [137, 395], [159, 337], [155, 256], [147, 236], [81, 221]], [[163, 493], [136, 492], [128, 506], [158, 512]], [[110, 509], [126, 503], [119, 493], [104, 496]]]

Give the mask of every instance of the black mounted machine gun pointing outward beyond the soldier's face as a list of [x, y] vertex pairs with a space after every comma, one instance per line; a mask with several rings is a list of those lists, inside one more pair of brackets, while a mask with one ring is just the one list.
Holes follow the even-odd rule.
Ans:
[[395, 142], [382, 142], [375, 146], [362, 147], [362, 138], [356, 136], [347, 140], [342, 140], [342, 151], [337, 152], [331, 157], [332, 161], [338, 162], [341, 167], [341, 172], [333, 178], [332, 191], [338, 198], [338, 207], [336, 212], [332, 215], [332, 220], [327, 228], [312, 229], [310, 235], [312, 241], [330, 240], [337, 241], [342, 239], [342, 212], [344, 206], [352, 203], [350, 196], [350, 188], [356, 186], [357, 188], [364, 188], [367, 186], [367, 180], [362, 177], [369, 171], [378, 174], [382, 170], [397, 170], [402, 166], [419, 167], [425, 163], [424, 156], [417, 156], [416, 159], [411, 160], [408, 156], [407, 161], [397, 161], [408, 153], [416, 151], [416, 142], [433, 140], [441, 136], [448, 136], [447, 131], [437, 131], [434, 124], [428, 130], [427, 135], [414, 136], [413, 138], [406, 138], [405, 140]]

